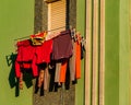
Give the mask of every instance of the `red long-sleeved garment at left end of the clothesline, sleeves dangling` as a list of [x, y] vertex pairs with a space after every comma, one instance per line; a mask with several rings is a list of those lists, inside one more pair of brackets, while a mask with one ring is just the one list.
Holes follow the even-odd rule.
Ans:
[[35, 47], [31, 45], [31, 40], [22, 40], [17, 42], [17, 57], [15, 60], [15, 74], [16, 78], [21, 75], [21, 69], [25, 67], [25, 69], [32, 68], [33, 75], [38, 75], [37, 66], [35, 63], [36, 58], [35, 55]]

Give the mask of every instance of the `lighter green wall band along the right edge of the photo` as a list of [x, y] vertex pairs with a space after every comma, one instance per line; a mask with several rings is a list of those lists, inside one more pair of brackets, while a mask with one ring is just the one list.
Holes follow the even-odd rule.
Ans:
[[129, 104], [130, 30], [129, 2], [120, 0], [119, 105]]

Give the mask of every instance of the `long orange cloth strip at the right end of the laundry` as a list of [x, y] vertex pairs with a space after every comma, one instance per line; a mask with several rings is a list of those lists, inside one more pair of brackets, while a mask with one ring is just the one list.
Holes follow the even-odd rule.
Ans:
[[75, 77], [76, 79], [81, 78], [81, 44], [79, 42], [75, 43], [76, 48], [76, 58], [75, 58]]

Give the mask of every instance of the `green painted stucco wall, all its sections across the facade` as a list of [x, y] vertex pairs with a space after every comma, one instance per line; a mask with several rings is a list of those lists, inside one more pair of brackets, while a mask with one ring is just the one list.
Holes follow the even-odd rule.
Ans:
[[[76, 7], [76, 28], [84, 35], [85, 0], [78, 0]], [[106, 0], [105, 8], [105, 105], [130, 105], [129, 0]], [[33, 105], [32, 86], [27, 89], [24, 85], [24, 90], [20, 91], [20, 94], [16, 93], [14, 68], [12, 68], [15, 55], [11, 56], [15, 52], [14, 39], [33, 33], [34, 0], [1, 0], [0, 105]], [[84, 75], [84, 69], [82, 74]], [[78, 81], [75, 94], [75, 104], [83, 105], [83, 103], [84, 77]]]

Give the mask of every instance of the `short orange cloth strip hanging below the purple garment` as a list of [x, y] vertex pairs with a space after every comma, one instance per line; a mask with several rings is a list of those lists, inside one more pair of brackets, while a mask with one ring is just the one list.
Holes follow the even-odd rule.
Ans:
[[67, 60], [61, 63], [60, 82], [66, 82], [67, 66], [68, 66], [68, 61]]

